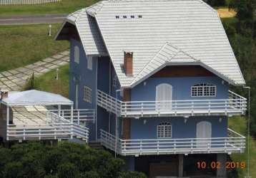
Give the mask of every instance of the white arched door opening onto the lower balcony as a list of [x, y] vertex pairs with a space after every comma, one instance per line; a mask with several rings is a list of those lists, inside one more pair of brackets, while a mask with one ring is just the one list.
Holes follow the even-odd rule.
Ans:
[[212, 124], [207, 121], [197, 123], [197, 147], [207, 148], [211, 145]]

